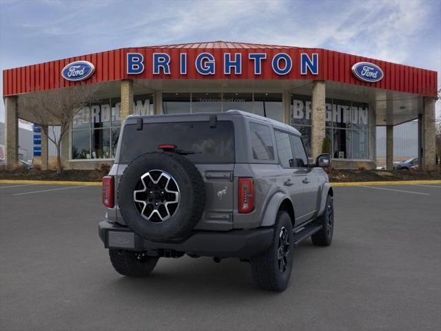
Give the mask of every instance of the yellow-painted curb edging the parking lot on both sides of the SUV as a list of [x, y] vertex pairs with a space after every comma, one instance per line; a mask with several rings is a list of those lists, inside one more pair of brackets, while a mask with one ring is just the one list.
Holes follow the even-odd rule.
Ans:
[[[101, 186], [101, 181], [25, 181], [15, 179], [0, 179], [0, 184], [41, 184], [41, 185], [88, 185]], [[330, 183], [331, 186], [379, 186], [379, 185], [415, 185], [441, 184], [441, 180], [433, 181], [349, 181], [347, 183]]]

